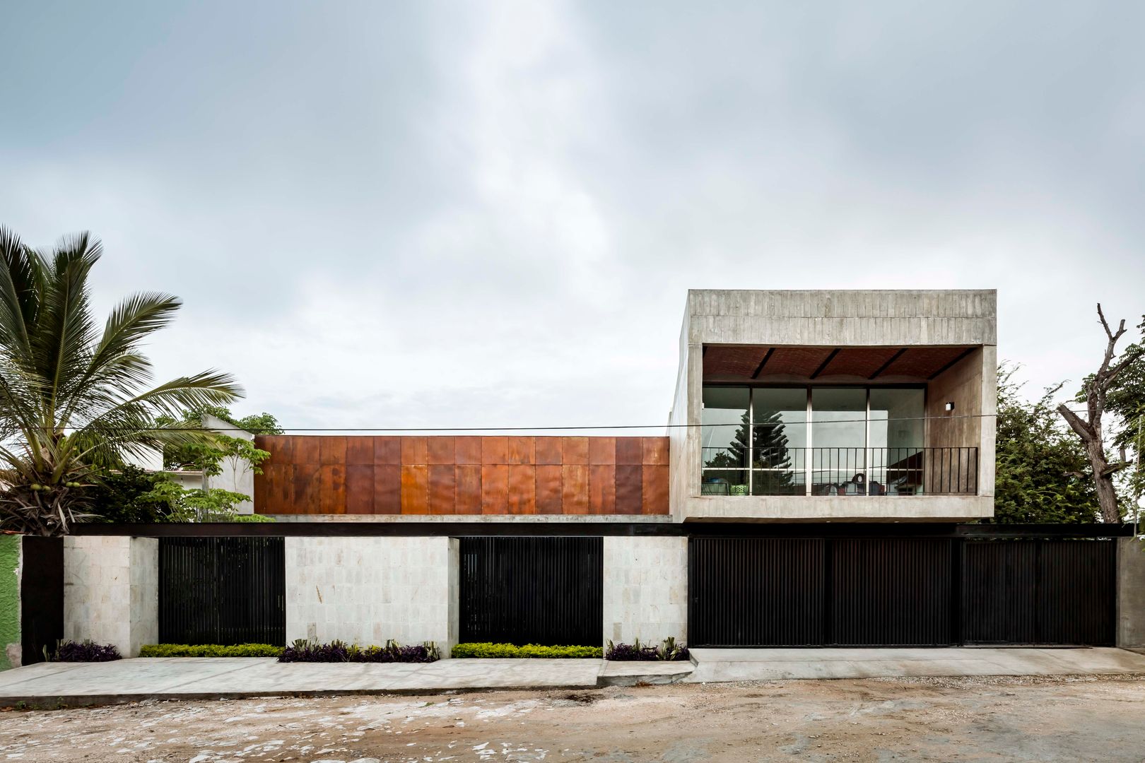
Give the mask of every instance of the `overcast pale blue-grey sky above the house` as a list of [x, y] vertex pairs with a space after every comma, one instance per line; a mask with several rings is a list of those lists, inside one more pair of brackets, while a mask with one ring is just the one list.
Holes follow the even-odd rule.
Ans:
[[688, 288], [1145, 312], [1145, 3], [0, 6], [0, 224], [287, 428], [662, 424]]

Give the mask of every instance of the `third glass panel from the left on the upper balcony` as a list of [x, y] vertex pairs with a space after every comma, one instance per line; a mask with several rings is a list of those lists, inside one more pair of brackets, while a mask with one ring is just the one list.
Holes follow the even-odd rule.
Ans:
[[866, 388], [812, 388], [811, 446], [814, 495], [867, 493]]

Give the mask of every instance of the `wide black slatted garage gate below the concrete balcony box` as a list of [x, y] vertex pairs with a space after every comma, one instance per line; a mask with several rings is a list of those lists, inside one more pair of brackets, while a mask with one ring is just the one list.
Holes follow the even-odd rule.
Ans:
[[692, 646], [1113, 645], [1116, 542], [693, 538]]

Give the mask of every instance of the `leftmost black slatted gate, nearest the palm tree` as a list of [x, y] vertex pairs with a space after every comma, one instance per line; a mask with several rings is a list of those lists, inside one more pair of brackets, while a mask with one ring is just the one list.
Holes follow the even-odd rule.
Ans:
[[159, 641], [286, 642], [282, 538], [160, 538]]

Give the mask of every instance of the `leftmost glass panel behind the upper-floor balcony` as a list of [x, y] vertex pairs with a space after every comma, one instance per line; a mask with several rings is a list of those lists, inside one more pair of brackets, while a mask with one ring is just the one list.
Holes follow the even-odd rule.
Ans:
[[750, 402], [747, 387], [704, 388], [701, 495], [748, 494]]

